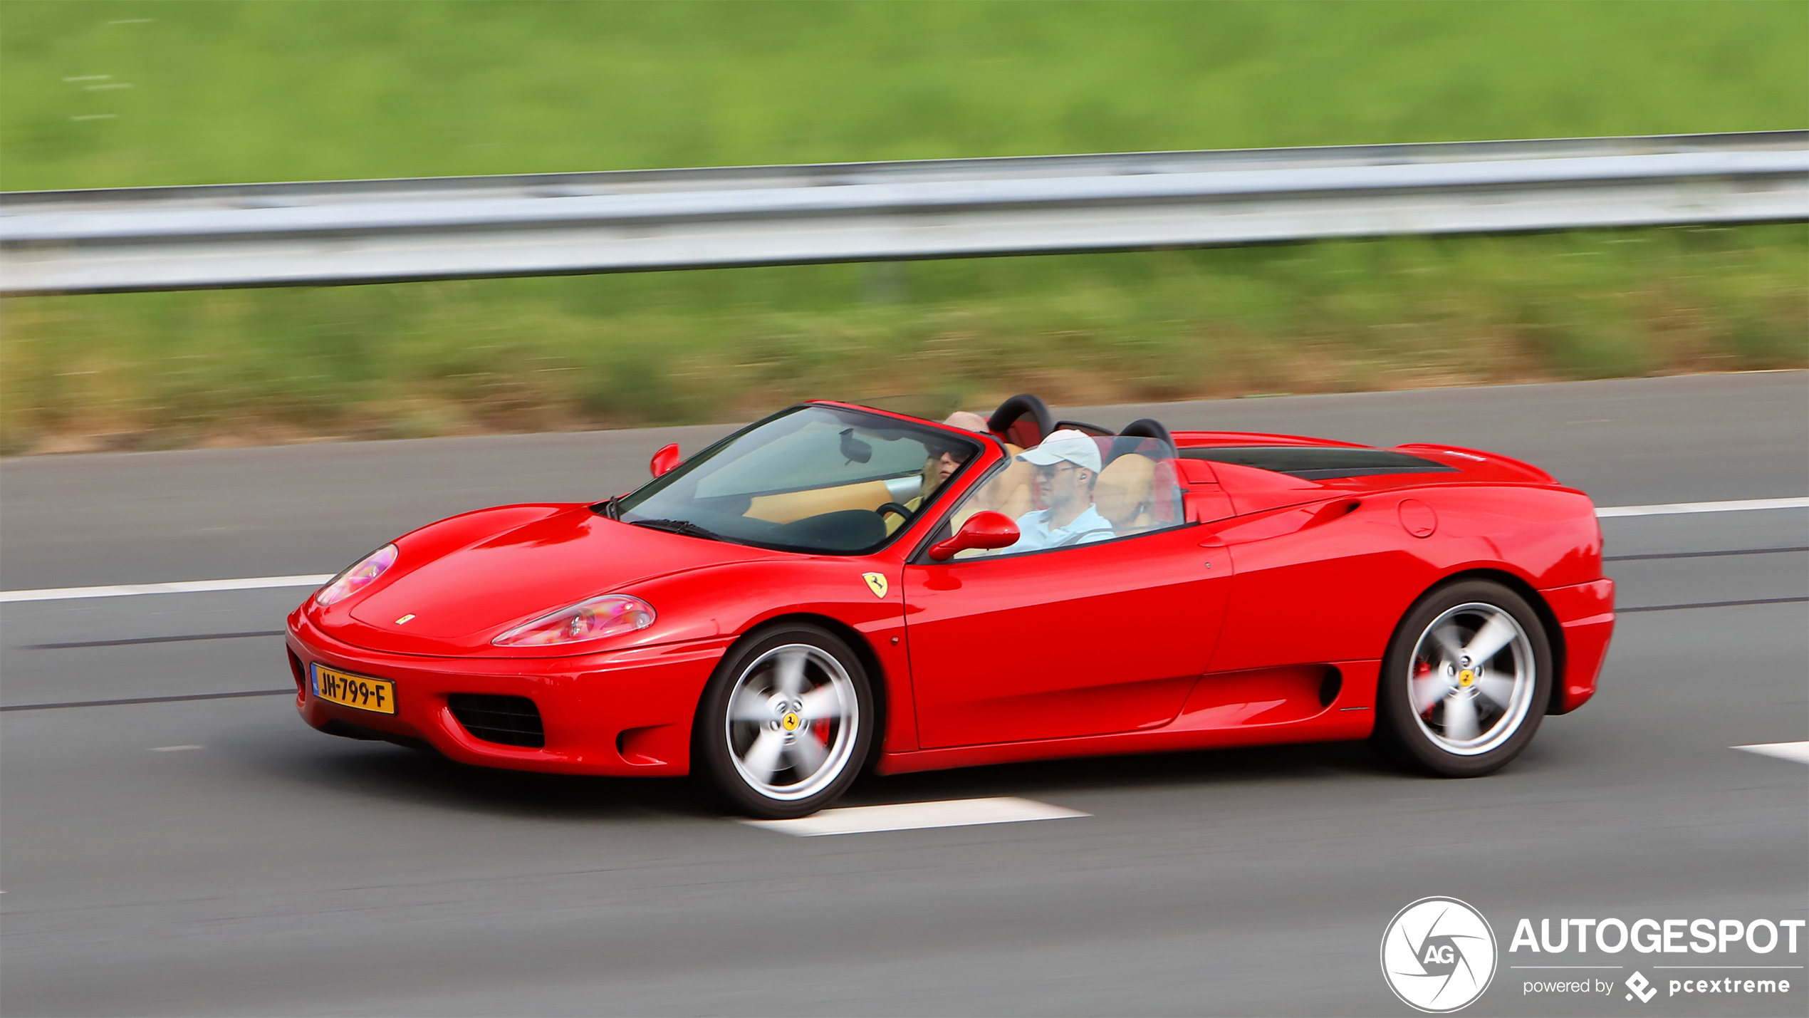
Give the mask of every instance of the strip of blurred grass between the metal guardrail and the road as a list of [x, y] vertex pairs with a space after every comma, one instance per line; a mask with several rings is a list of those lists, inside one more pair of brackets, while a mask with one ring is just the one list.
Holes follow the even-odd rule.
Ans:
[[1393, 239], [11, 302], [14, 452], [1067, 405], [1809, 362], [1809, 228]]

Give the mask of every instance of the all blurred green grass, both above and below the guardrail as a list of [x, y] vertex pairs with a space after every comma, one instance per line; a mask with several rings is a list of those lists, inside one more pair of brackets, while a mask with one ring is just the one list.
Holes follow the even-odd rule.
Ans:
[[[0, 188], [1802, 128], [1798, 2], [0, 5]], [[0, 304], [0, 452], [1809, 363], [1809, 226]]]

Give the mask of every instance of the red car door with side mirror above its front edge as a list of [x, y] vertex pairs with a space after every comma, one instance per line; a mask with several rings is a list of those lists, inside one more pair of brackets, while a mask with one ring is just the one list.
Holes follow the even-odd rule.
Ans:
[[[964, 519], [962, 512], [952, 519]], [[1201, 526], [904, 566], [924, 749], [1174, 720], [1225, 617], [1230, 559]]]

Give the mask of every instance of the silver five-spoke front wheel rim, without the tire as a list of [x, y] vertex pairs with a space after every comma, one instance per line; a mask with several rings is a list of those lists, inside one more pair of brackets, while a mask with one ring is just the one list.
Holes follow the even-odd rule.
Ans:
[[729, 759], [754, 792], [809, 799], [848, 765], [859, 700], [841, 662], [812, 644], [783, 644], [754, 658], [734, 689], [724, 732]]

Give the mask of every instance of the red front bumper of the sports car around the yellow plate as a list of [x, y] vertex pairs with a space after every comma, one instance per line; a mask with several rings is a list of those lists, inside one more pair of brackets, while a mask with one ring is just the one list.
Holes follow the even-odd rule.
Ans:
[[[355, 736], [425, 741], [459, 763], [559, 774], [686, 774], [691, 720], [727, 636], [572, 658], [432, 658], [335, 640], [300, 611], [289, 617], [295, 709], [309, 725]], [[313, 694], [309, 665], [396, 683], [396, 712], [344, 707]], [[546, 743], [485, 741], [452, 716], [458, 693], [526, 696]]]

